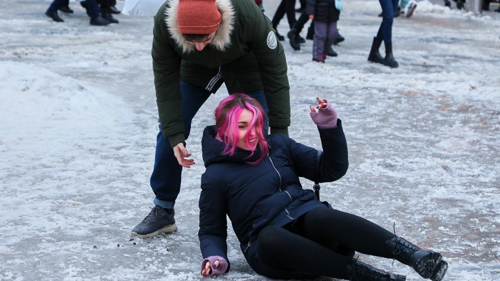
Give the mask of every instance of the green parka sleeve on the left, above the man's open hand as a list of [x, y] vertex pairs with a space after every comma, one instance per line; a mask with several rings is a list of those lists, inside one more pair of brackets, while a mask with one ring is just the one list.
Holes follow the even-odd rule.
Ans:
[[181, 114], [181, 56], [175, 51], [165, 24], [167, 2], [154, 19], [151, 56], [161, 130], [175, 146], [185, 140]]

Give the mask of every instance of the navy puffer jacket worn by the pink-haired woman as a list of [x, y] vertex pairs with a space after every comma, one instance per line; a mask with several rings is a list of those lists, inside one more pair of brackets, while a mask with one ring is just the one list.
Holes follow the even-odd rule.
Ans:
[[[247, 262], [256, 270], [257, 237], [265, 226], [283, 226], [322, 206], [312, 189], [303, 189], [299, 177], [332, 182], [347, 172], [347, 143], [338, 120], [336, 128], [319, 129], [324, 152], [281, 134], [267, 137], [269, 153], [258, 164], [260, 150], [237, 148], [222, 155], [224, 144], [215, 139], [215, 126], [203, 132], [201, 146], [206, 171], [201, 176], [199, 240], [203, 258], [227, 258], [227, 221], [231, 219]], [[229, 268], [228, 268], [229, 270]]]

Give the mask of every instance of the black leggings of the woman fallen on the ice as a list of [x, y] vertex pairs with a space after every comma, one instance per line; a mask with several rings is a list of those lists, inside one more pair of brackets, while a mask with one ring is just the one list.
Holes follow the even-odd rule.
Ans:
[[360, 216], [318, 207], [294, 225], [267, 226], [258, 236], [258, 273], [275, 279], [347, 279], [353, 251], [392, 257], [394, 234]]

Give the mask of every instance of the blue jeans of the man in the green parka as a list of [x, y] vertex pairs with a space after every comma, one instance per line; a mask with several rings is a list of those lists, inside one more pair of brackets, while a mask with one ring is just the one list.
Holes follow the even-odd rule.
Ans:
[[[197, 114], [201, 105], [205, 103], [210, 94], [209, 91], [201, 87], [181, 81], [181, 106], [185, 126], [185, 139], [188, 139], [190, 135], [191, 121], [194, 115]], [[267, 114], [268, 108], [265, 101], [264, 90], [247, 92], [245, 94], [259, 101]], [[266, 120], [264, 132], [267, 132], [267, 127]], [[181, 176], [182, 166], [178, 164], [169, 140], [163, 137], [160, 126], [160, 132], [156, 137], [155, 163], [150, 180], [151, 188], [156, 195], [153, 200], [155, 205], [167, 209], [174, 207], [177, 196], [181, 191]]]

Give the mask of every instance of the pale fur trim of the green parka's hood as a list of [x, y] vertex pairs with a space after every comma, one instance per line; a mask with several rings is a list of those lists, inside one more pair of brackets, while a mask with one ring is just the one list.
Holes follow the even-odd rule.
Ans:
[[[182, 33], [178, 30], [177, 25], [177, 9], [179, 0], [169, 0], [169, 4], [165, 6], [165, 24], [167, 29], [175, 40], [177, 46], [183, 49], [184, 53], [194, 51], [194, 45], [184, 39]], [[231, 0], [215, 0], [217, 8], [222, 15], [222, 21], [219, 29], [215, 31], [210, 45], [215, 46], [215, 49], [224, 51], [231, 44], [231, 33], [233, 33], [235, 22], [235, 11]]]

